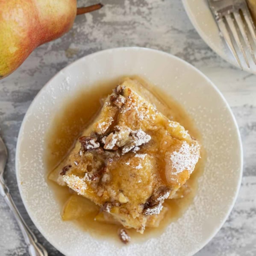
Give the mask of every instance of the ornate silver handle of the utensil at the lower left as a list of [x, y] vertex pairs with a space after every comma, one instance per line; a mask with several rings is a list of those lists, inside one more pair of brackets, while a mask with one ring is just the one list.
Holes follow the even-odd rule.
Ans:
[[3, 197], [6, 203], [9, 205], [10, 209], [12, 210], [14, 217], [21, 229], [26, 245], [28, 246], [29, 255], [30, 256], [48, 256], [47, 251], [37, 241], [37, 238], [35, 237], [34, 233], [29, 229], [24, 219], [21, 217], [21, 214], [18, 211], [17, 207], [15, 206], [15, 203], [12, 200], [12, 196], [9, 193], [9, 188], [6, 186], [6, 184], [2, 183], [0, 185], [2, 185], [2, 188], [3, 188], [1, 189], [1, 192], [3, 192]]

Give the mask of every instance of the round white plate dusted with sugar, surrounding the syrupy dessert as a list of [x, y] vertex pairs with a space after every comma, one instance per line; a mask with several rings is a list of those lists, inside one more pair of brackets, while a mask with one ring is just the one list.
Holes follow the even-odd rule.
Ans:
[[[203, 136], [206, 167], [194, 203], [157, 238], [116, 247], [63, 222], [44, 179], [44, 134], [56, 111], [85, 86], [122, 75], [139, 75], [181, 103]], [[18, 136], [16, 172], [29, 216], [58, 250], [80, 255], [192, 255], [218, 232], [238, 193], [242, 149], [238, 127], [220, 91], [187, 62], [157, 50], [117, 48], [79, 59], [53, 77], [29, 107]]]

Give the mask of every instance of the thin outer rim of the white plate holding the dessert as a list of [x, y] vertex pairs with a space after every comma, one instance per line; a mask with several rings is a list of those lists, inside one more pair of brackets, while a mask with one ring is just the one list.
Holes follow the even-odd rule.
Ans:
[[28, 206], [26, 205], [26, 202], [25, 202], [25, 197], [24, 197], [24, 194], [23, 194], [23, 188], [21, 187], [21, 180], [20, 180], [20, 177], [19, 177], [19, 173], [20, 173], [20, 170], [19, 170], [19, 166], [18, 166], [18, 152], [19, 152], [19, 148], [21, 146], [21, 139], [22, 139], [22, 131], [24, 129], [24, 125], [25, 125], [25, 122], [26, 122], [26, 119], [27, 117], [29, 116], [34, 104], [36, 103], [37, 101], [37, 98], [40, 96], [40, 94], [47, 89], [48, 85], [50, 84], [50, 82], [55, 79], [55, 77], [62, 71], [65, 71], [66, 69], [68, 69], [71, 65], [73, 65], [74, 63], [77, 63], [77, 62], [80, 62], [82, 61], [84, 58], [88, 57], [88, 56], [97, 56], [98, 54], [101, 54], [101, 53], [105, 53], [105, 52], [112, 52], [112, 51], [116, 51], [116, 50], [124, 50], [124, 51], [127, 51], [127, 50], [144, 50], [144, 51], [153, 51], [153, 52], [156, 52], [156, 53], [159, 53], [159, 54], [163, 54], [163, 55], [166, 55], [166, 56], [169, 56], [171, 58], [174, 58], [180, 62], [182, 62], [182, 64], [184, 65], [187, 65], [189, 68], [191, 68], [193, 71], [197, 72], [198, 74], [200, 74], [200, 76], [202, 76], [204, 79], [206, 79], [207, 82], [209, 82], [209, 85], [212, 86], [212, 88], [215, 89], [215, 91], [218, 93], [218, 95], [221, 97], [221, 99], [223, 100], [223, 102], [225, 103], [231, 117], [232, 117], [232, 121], [233, 121], [233, 124], [235, 125], [235, 128], [236, 128], [236, 133], [237, 133], [237, 138], [238, 138], [238, 142], [239, 142], [239, 155], [240, 155], [240, 159], [239, 159], [239, 162], [240, 162], [240, 175], [239, 175], [239, 179], [238, 179], [238, 182], [237, 182], [237, 187], [236, 187], [236, 193], [232, 199], [232, 203], [230, 204], [230, 207], [229, 207], [229, 210], [227, 211], [226, 215], [225, 215], [225, 218], [223, 218], [223, 221], [221, 222], [221, 224], [218, 225], [218, 227], [215, 227], [215, 229], [212, 231], [212, 235], [209, 236], [209, 238], [207, 240], [205, 240], [200, 247], [197, 247], [195, 248], [195, 250], [193, 252], [191, 252], [191, 255], [194, 255], [195, 253], [197, 253], [199, 250], [201, 250], [206, 244], [209, 243], [209, 241], [212, 240], [212, 238], [218, 233], [218, 231], [221, 229], [221, 227], [223, 226], [223, 224], [227, 221], [227, 218], [228, 216], [230, 215], [230, 212], [232, 211], [234, 205], [235, 205], [235, 201], [238, 197], [238, 193], [239, 193], [239, 189], [240, 189], [240, 186], [241, 186], [241, 180], [242, 180], [242, 174], [243, 174], [243, 147], [242, 147], [242, 141], [241, 141], [241, 135], [240, 135], [240, 132], [239, 132], [239, 128], [238, 128], [238, 124], [235, 120], [235, 116], [233, 115], [233, 112], [229, 106], [229, 104], [227, 103], [227, 100], [224, 98], [223, 94], [221, 93], [221, 91], [218, 89], [218, 87], [216, 85], [214, 85], [214, 83], [208, 78], [206, 77], [206, 75], [204, 75], [200, 70], [198, 70], [197, 68], [195, 68], [193, 65], [191, 65], [190, 63], [186, 62], [185, 60], [177, 57], [177, 56], [174, 56], [170, 53], [166, 53], [166, 52], [163, 52], [161, 50], [155, 50], [155, 49], [150, 49], [150, 48], [146, 48], [146, 47], [117, 47], [117, 48], [110, 48], [110, 49], [106, 49], [106, 50], [101, 50], [101, 51], [98, 51], [98, 52], [95, 52], [95, 53], [91, 53], [91, 54], [88, 54], [86, 56], [83, 56], [82, 58], [76, 60], [75, 62], [72, 62], [70, 63], [69, 65], [67, 65], [65, 68], [63, 68], [62, 70], [60, 70], [59, 72], [57, 72], [41, 89], [40, 91], [38, 91], [38, 94], [35, 96], [35, 98], [32, 100], [29, 108], [27, 109], [26, 111], [26, 114], [24, 115], [24, 118], [23, 118], [23, 121], [22, 121], [22, 124], [21, 124], [21, 127], [20, 127], [20, 130], [19, 130], [19, 133], [18, 133], [18, 140], [17, 140], [17, 144], [16, 144], [16, 152], [15, 152], [15, 173], [16, 173], [16, 179], [17, 179], [17, 183], [18, 183], [18, 189], [19, 189], [19, 193], [21, 195], [21, 199], [22, 199], [22, 202], [24, 204], [24, 207], [26, 209], [26, 212], [27, 214], [29, 215], [29, 218], [32, 220], [33, 224], [35, 225], [35, 227], [39, 230], [39, 232], [44, 236], [44, 238], [50, 243], [52, 244], [57, 250], [59, 250], [61, 253], [63, 253], [65, 255], [65, 252], [62, 250], [61, 247], [59, 247], [57, 244], [55, 244], [53, 241], [49, 241], [47, 239], [47, 235], [45, 234], [44, 230], [41, 229], [41, 228], [38, 228], [37, 225], [36, 225], [36, 221], [31, 217], [31, 215], [29, 214], [29, 211], [28, 211]]

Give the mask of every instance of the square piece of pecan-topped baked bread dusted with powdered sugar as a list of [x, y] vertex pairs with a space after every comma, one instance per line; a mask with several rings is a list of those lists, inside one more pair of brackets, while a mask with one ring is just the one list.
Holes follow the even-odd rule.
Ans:
[[50, 178], [100, 206], [97, 221], [143, 233], [158, 226], [164, 200], [189, 179], [200, 145], [135, 88], [131, 79], [115, 88]]

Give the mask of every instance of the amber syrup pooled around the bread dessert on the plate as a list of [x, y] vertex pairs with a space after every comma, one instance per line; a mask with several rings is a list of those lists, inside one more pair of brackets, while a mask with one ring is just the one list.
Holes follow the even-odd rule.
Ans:
[[[179, 122], [194, 138], [200, 142], [201, 137], [197, 129], [193, 125], [193, 120], [188, 116], [182, 107], [170, 97], [166, 97], [164, 92], [159, 91], [153, 85], [150, 85], [140, 77], [132, 77], [141, 82], [141, 88], [139, 92], [143, 94], [146, 100], [153, 103], [156, 108], [167, 116], [170, 120]], [[49, 174], [69, 153], [73, 147], [74, 142], [79, 137], [82, 130], [90, 123], [92, 118], [100, 110], [100, 99], [106, 97], [115, 86], [122, 81], [123, 78], [118, 78], [109, 82], [101, 82], [94, 85], [93, 89], [86, 89], [79, 91], [76, 95], [72, 96], [69, 100], [61, 106], [58, 112], [56, 112], [55, 118], [50, 124], [48, 132], [46, 134], [46, 150], [44, 161], [47, 166]], [[129, 235], [132, 238], [132, 242], [144, 241], [145, 239], [157, 236], [164, 232], [165, 227], [172, 221], [176, 221], [188, 206], [193, 202], [193, 198], [197, 191], [197, 179], [203, 172], [205, 152], [201, 150], [201, 159], [197, 163], [194, 172], [188, 179], [187, 184], [190, 186], [191, 191], [185, 194], [183, 198], [165, 200], [164, 206], [168, 207], [168, 212], [165, 218], [160, 222], [158, 228], [146, 228], [143, 235], [135, 230], [128, 230]], [[56, 202], [59, 203], [60, 218], [62, 214], [62, 208], [71, 194], [74, 194], [68, 187], [62, 187], [55, 182], [46, 180], [50, 189], [53, 189], [56, 196]], [[77, 195], [77, 197], [80, 197]], [[84, 198], [84, 200], [87, 200]], [[86, 217], [72, 220], [77, 224], [79, 228], [90, 232], [91, 235], [97, 238], [109, 238], [118, 240], [117, 230], [120, 227], [115, 224], [106, 224], [98, 221], [94, 221], [94, 217], [97, 215], [99, 207], [95, 211], [89, 212]], [[121, 244], [121, 243], [120, 243]]]

